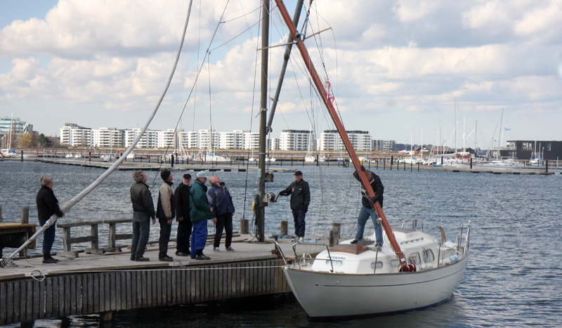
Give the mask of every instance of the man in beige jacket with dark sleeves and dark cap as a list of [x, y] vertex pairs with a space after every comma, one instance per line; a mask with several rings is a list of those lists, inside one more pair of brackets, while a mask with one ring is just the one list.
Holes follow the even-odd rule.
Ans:
[[174, 191], [171, 190], [171, 185], [174, 184], [171, 182], [174, 180], [174, 174], [168, 170], [164, 170], [160, 173], [160, 177], [164, 182], [160, 186], [158, 205], [156, 206], [156, 217], [160, 223], [158, 259], [160, 261], [171, 262], [174, 261], [174, 258], [168, 256], [168, 242], [170, 241], [171, 221], [174, 216], [176, 216]]

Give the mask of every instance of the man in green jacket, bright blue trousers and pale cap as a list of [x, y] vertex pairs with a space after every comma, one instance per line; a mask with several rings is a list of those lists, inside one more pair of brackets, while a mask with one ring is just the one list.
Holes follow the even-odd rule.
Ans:
[[209, 256], [203, 254], [207, 242], [207, 220], [213, 218], [211, 206], [207, 199], [207, 174], [204, 171], [197, 172], [197, 178], [190, 189], [190, 220], [193, 223], [191, 234], [191, 258], [196, 260], [210, 260]]

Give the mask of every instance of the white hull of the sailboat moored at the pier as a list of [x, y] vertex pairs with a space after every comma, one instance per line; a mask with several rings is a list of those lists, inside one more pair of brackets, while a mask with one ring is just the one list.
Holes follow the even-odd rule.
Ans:
[[316, 319], [380, 315], [433, 306], [450, 299], [469, 254], [459, 262], [415, 273], [351, 275], [285, 267], [296, 299]]

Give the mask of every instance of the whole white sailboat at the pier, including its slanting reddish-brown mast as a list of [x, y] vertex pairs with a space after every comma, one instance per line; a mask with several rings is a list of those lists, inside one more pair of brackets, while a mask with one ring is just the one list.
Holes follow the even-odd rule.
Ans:
[[[374, 192], [315, 71], [303, 43], [305, 38], [297, 32], [282, 0], [275, 3], [371, 198]], [[462, 225], [455, 242], [445, 242], [444, 232], [440, 242], [423, 229], [391, 228], [379, 202], [374, 207], [385, 230], [383, 247], [367, 245], [374, 240], [372, 237], [365, 244], [351, 244], [348, 240], [334, 247], [326, 246], [315, 257], [297, 257], [296, 248], [306, 243], [294, 244], [294, 262], [283, 255], [283, 273], [310, 317], [352, 317], [425, 308], [449, 299], [462, 280], [470, 254], [470, 223]]]

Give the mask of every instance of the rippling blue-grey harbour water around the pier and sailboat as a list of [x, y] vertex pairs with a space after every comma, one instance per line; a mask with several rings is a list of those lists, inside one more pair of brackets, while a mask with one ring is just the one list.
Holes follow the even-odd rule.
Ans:
[[[295, 167], [295, 169], [297, 169]], [[307, 215], [307, 235], [326, 235], [332, 222], [342, 223], [346, 237], [354, 235], [360, 204], [352, 171], [339, 167], [298, 168], [311, 185], [313, 202]], [[446, 303], [398, 315], [339, 322], [310, 322], [291, 294], [221, 301], [202, 305], [121, 311], [113, 327], [559, 327], [562, 320], [562, 175], [520, 176], [442, 171], [376, 170], [385, 187], [384, 210], [391, 225], [421, 219], [425, 230], [438, 234], [436, 225], [454, 240], [461, 223], [471, 221], [471, 259], [464, 280]], [[54, 191], [63, 204], [97, 178], [103, 170], [32, 162], [0, 162], [0, 204], [4, 221], [19, 221], [22, 206], [30, 206], [36, 222], [35, 195], [39, 176], [55, 180]], [[131, 171], [117, 171], [91, 195], [67, 212], [65, 222], [131, 216]], [[156, 172], [148, 171], [149, 183]], [[320, 174], [321, 173], [321, 174]], [[174, 173], [179, 183], [180, 172]], [[217, 172], [235, 199], [235, 222], [244, 212], [251, 219], [256, 191], [255, 172]], [[292, 173], [275, 173], [270, 192], [279, 192], [294, 180]], [[152, 195], [157, 197], [161, 179]], [[280, 220], [292, 222], [288, 197], [266, 209], [266, 236], [278, 232]], [[235, 223], [235, 229], [237, 229]], [[367, 224], [367, 228], [370, 226]], [[89, 229], [89, 228], [88, 228]], [[129, 230], [129, 227], [122, 227]], [[368, 232], [372, 233], [371, 230]], [[106, 232], [100, 231], [100, 234]], [[157, 236], [151, 230], [151, 240]], [[175, 232], [172, 232], [173, 234]], [[74, 232], [73, 232], [74, 234]], [[54, 249], [62, 249], [57, 230]], [[38, 246], [42, 240], [39, 240]], [[40, 248], [40, 246], [39, 246]], [[5, 249], [8, 254], [11, 249]], [[336, 297], [336, 296], [334, 296]], [[407, 297], [405, 295], [404, 297]], [[37, 327], [95, 327], [98, 316], [68, 320], [41, 320]]]

